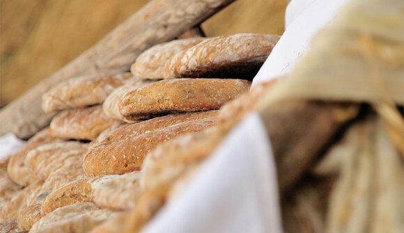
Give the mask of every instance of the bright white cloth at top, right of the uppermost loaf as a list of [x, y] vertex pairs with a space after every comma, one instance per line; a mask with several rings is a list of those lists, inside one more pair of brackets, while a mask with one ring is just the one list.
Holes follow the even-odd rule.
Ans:
[[349, 0], [293, 0], [286, 9], [286, 31], [253, 80], [256, 83], [288, 74], [309, 49], [313, 35]]

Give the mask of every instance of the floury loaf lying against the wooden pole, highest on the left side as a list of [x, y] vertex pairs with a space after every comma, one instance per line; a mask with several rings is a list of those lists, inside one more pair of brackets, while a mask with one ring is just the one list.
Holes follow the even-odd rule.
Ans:
[[98, 73], [68, 79], [42, 95], [42, 109], [51, 112], [100, 104], [115, 88], [131, 79], [134, 77], [130, 73]]

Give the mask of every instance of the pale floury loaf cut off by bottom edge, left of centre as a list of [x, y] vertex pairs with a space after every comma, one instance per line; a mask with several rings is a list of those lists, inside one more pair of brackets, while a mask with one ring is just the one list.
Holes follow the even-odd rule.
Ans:
[[91, 202], [72, 204], [52, 211], [36, 222], [31, 233], [85, 233], [116, 214], [107, 209], [99, 209]]

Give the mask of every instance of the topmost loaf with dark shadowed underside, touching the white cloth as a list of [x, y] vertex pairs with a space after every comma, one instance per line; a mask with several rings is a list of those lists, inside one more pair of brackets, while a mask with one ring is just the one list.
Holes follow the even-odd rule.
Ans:
[[166, 62], [164, 79], [254, 78], [279, 35], [235, 34], [205, 40]]

